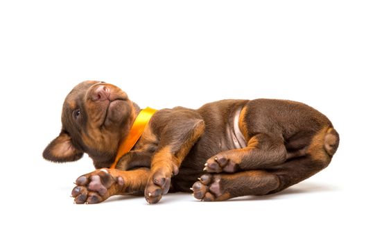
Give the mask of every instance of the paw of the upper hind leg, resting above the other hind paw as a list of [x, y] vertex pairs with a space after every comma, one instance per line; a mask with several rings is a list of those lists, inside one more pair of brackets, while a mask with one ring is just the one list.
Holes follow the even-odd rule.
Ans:
[[209, 173], [220, 173], [223, 171], [233, 173], [238, 170], [238, 164], [225, 153], [218, 153], [207, 160], [203, 170]]

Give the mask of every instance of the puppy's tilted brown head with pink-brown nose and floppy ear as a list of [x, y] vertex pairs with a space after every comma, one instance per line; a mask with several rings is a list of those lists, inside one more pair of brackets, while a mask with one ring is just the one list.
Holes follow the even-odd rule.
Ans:
[[137, 110], [119, 87], [98, 81], [82, 82], [67, 95], [62, 106], [62, 130], [44, 149], [43, 157], [69, 162], [88, 153], [96, 167], [109, 166]]

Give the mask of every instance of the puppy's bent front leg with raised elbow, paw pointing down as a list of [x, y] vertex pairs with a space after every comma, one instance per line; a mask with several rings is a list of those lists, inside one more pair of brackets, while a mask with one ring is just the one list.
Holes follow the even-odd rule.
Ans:
[[178, 174], [182, 160], [204, 131], [201, 119], [184, 119], [167, 124], [160, 138], [159, 149], [151, 160], [150, 178], [145, 190], [148, 203], [157, 203], [171, 185], [171, 176]]

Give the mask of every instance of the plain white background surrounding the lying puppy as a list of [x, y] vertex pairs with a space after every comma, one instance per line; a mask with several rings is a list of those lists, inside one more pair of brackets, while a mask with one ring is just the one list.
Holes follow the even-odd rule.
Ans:
[[[1, 242], [374, 242], [374, 1], [0, 1]], [[141, 107], [292, 99], [327, 115], [331, 165], [274, 196], [74, 205], [91, 171], [42, 159], [85, 80]]]

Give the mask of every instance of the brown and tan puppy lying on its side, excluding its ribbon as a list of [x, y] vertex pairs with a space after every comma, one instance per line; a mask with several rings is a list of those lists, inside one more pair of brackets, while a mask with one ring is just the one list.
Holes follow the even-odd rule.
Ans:
[[92, 158], [97, 170], [77, 179], [76, 203], [143, 193], [157, 203], [168, 191], [189, 190], [203, 201], [272, 194], [327, 167], [339, 144], [331, 121], [303, 103], [223, 100], [198, 110], [155, 112], [116, 169], [102, 169], [114, 162], [139, 112], [108, 83], [83, 82], [68, 94], [62, 131], [43, 156], [55, 162], [83, 153]]

